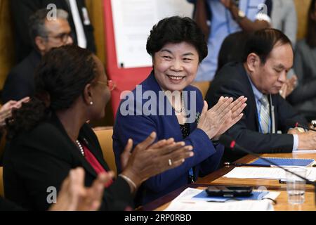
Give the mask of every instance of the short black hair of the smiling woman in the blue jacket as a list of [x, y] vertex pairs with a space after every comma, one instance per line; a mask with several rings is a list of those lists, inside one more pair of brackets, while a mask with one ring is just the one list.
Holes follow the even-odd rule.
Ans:
[[172, 16], [160, 20], [150, 31], [146, 50], [153, 57], [154, 53], [160, 51], [165, 44], [183, 41], [195, 46], [201, 63], [207, 56], [207, 43], [197, 23], [188, 17]]

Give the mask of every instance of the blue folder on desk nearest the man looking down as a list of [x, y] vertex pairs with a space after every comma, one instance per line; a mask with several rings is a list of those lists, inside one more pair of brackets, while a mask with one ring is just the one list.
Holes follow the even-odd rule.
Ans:
[[[276, 165], [282, 167], [307, 167], [311, 165], [315, 160], [313, 159], [294, 159], [294, 158], [269, 158], [265, 157], [265, 159], [274, 162]], [[265, 162], [263, 159], [258, 159], [255, 162], [251, 162], [251, 164], [258, 164], [258, 165], [270, 165], [270, 163]], [[271, 165], [273, 166], [273, 165]]]

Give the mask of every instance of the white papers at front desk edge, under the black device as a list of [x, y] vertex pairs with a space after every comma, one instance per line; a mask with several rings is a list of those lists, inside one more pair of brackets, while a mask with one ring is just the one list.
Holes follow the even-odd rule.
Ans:
[[[180, 193], [165, 211], [273, 211], [270, 200], [242, 200], [227, 203], [209, 203], [193, 198], [204, 190], [187, 188]], [[270, 194], [270, 193], [269, 193]], [[275, 199], [279, 193], [271, 193], [268, 198]]]

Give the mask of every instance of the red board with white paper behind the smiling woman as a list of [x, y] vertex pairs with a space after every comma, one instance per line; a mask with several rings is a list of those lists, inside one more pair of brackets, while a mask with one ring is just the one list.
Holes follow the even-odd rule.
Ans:
[[114, 117], [121, 92], [135, 89], [152, 70], [145, 46], [152, 26], [162, 18], [192, 16], [185, 0], [103, 0], [107, 77], [115, 82], [112, 91]]

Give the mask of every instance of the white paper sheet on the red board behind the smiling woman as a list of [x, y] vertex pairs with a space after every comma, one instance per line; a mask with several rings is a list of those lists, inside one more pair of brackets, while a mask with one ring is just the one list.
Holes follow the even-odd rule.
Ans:
[[146, 51], [152, 26], [172, 15], [192, 17], [193, 12], [184, 0], [112, 0], [111, 5], [119, 68], [152, 66]]

